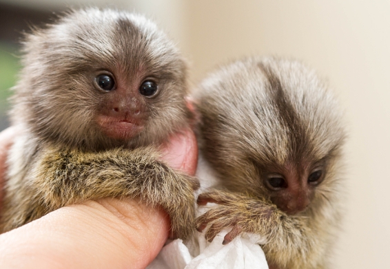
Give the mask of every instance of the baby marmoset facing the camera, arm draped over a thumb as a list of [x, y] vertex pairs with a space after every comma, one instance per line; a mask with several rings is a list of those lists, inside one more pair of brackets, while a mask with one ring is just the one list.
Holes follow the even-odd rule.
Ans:
[[144, 17], [89, 8], [23, 45], [0, 231], [84, 200], [137, 197], [189, 237], [198, 182], [158, 160], [191, 118], [185, 61], [167, 36]]

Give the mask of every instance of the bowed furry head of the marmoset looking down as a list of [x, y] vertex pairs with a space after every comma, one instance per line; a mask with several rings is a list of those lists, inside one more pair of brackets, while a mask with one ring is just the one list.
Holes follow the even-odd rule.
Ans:
[[340, 112], [307, 67], [248, 58], [210, 76], [195, 98], [201, 149], [228, 189], [267, 197], [291, 215], [335, 193]]

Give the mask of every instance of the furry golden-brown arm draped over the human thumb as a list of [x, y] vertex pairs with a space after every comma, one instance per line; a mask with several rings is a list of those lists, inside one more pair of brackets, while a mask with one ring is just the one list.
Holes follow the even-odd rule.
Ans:
[[149, 206], [164, 208], [175, 235], [187, 238], [194, 226], [193, 192], [198, 182], [157, 158], [158, 153], [151, 147], [101, 153], [44, 150], [32, 169], [29, 184], [25, 184], [28, 191], [24, 193], [30, 199], [24, 200], [28, 203], [24, 212], [17, 214], [17, 226], [85, 200], [137, 197]]

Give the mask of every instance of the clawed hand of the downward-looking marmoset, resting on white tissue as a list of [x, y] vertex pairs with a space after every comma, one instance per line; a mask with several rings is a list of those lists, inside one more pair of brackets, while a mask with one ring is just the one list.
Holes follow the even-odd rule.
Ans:
[[215, 191], [203, 193], [198, 197], [198, 204], [214, 202], [218, 207], [212, 208], [196, 219], [196, 229], [204, 230], [205, 237], [212, 241], [223, 229], [232, 227], [225, 235], [223, 244], [228, 244], [242, 233], [261, 233], [264, 222], [267, 222], [274, 208], [261, 200], [245, 195]]

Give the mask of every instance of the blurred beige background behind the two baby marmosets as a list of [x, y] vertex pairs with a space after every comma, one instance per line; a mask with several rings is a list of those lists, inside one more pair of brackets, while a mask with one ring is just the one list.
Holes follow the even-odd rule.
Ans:
[[317, 69], [349, 127], [347, 213], [333, 268], [390, 268], [390, 1], [0, 0], [0, 130], [20, 33], [80, 4], [152, 17], [189, 59], [193, 85], [218, 63], [252, 54]]

